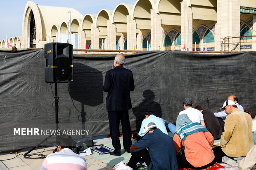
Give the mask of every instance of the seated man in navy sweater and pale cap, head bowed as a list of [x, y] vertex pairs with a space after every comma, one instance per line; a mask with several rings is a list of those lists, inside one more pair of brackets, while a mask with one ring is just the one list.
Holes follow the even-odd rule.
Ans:
[[145, 124], [142, 134], [146, 135], [130, 147], [132, 156], [127, 165], [135, 168], [142, 157], [149, 170], [178, 170], [172, 138], [156, 128], [153, 122]]

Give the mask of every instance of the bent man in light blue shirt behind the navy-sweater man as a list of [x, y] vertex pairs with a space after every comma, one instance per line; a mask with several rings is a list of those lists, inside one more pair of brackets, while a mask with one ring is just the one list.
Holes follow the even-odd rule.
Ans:
[[157, 128], [159, 128], [163, 133], [168, 135], [163, 119], [161, 119], [160, 117], [156, 117], [151, 110], [147, 110], [145, 112], [145, 119], [143, 119], [141, 123], [140, 132], [138, 134], [140, 138], [145, 135], [145, 133], [143, 133], [143, 130], [144, 130], [145, 124], [148, 122], [154, 122]]

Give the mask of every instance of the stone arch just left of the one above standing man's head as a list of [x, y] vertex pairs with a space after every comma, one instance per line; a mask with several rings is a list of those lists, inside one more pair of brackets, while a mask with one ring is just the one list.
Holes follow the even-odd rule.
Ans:
[[107, 20], [111, 20], [113, 10], [102, 9], [96, 17], [96, 27], [100, 35], [107, 35]]

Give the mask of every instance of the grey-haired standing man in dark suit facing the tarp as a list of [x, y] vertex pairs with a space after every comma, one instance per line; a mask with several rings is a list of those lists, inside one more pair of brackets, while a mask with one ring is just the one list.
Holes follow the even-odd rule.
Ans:
[[114, 69], [106, 72], [103, 91], [108, 92], [106, 98], [107, 112], [109, 115], [109, 131], [112, 145], [115, 148], [111, 155], [121, 155], [119, 140], [119, 122], [121, 120], [123, 130], [123, 148], [130, 153], [131, 129], [128, 110], [132, 108], [130, 91], [134, 90], [133, 73], [123, 68], [125, 57], [116, 55]]

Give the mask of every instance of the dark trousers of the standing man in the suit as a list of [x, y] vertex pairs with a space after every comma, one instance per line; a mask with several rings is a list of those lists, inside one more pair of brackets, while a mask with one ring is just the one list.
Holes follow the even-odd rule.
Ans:
[[121, 120], [123, 131], [123, 148], [128, 151], [132, 145], [132, 133], [130, 129], [130, 120], [128, 110], [109, 112], [109, 131], [112, 139], [115, 154], [121, 154], [119, 123]]

